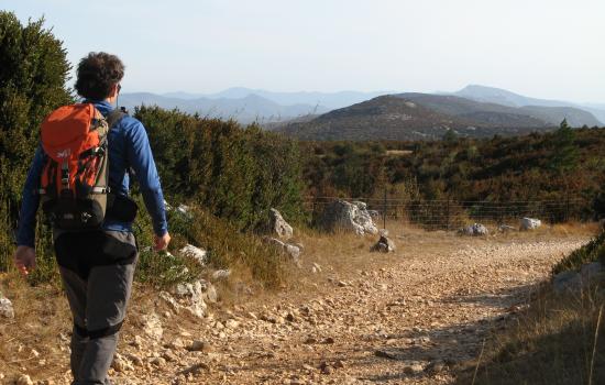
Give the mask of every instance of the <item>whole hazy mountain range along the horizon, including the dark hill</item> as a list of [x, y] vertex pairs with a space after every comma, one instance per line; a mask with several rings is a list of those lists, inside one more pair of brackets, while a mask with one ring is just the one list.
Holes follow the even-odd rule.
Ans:
[[[400, 99], [408, 98], [408, 101], [429, 109], [431, 113], [440, 113], [441, 118], [444, 119], [430, 121], [426, 120], [426, 117], [418, 117], [414, 123], [406, 121], [405, 124], [395, 123], [393, 119], [386, 119], [388, 124], [385, 127], [388, 127], [387, 131], [391, 132], [388, 136], [394, 134], [394, 127], [397, 124], [399, 124], [397, 127], [400, 133], [395, 136], [404, 135], [402, 132], [405, 132], [410, 124], [414, 127], [413, 131], [418, 132], [418, 134], [411, 136], [424, 136], [425, 134], [432, 136], [448, 127], [465, 130], [465, 124], [469, 125], [471, 131], [474, 130], [473, 132], [477, 133], [498, 129], [513, 131], [542, 129], [559, 124], [563, 118], [566, 118], [572, 125], [587, 124], [592, 127], [605, 121], [605, 106], [603, 105], [580, 106], [565, 101], [535, 99], [483, 86], [468, 86], [458, 92], [437, 95], [388, 91], [274, 92], [262, 89], [230, 88], [217, 94], [122, 94], [119, 102], [128, 109], [141, 105], [158, 106], [165, 109], [177, 108], [185, 112], [212, 118], [235, 119], [244, 124], [255, 121], [271, 130], [296, 132], [296, 135], [301, 138], [316, 138], [302, 133], [306, 131], [305, 127], [312, 125], [312, 129], [308, 129], [309, 132], [319, 132], [322, 131], [322, 127], [330, 125], [332, 128], [321, 135], [318, 133], [318, 135], [339, 139], [339, 132], [346, 131], [345, 128], [339, 128], [341, 122], [345, 122], [342, 124], [359, 127], [355, 130], [362, 130], [363, 128], [363, 119], [354, 123], [348, 121], [346, 114], [349, 112], [355, 111], [355, 113], [359, 113], [367, 106], [363, 105], [364, 102], [371, 102], [371, 106], [376, 107], [376, 103], [389, 100], [385, 98], [386, 95], [398, 98], [395, 100], [399, 102]], [[362, 106], [355, 107], [359, 103], [362, 103]], [[384, 109], [394, 108], [391, 101], [387, 105]], [[402, 108], [405, 109], [405, 106]], [[416, 113], [419, 113], [419, 111], [414, 110]], [[338, 119], [333, 120], [334, 117], [338, 117]], [[372, 121], [374, 125], [380, 122], [380, 117], [375, 114], [365, 118]], [[448, 124], [448, 122], [451, 123]], [[373, 127], [369, 132], [377, 128]], [[428, 134], [428, 132], [433, 133]], [[409, 134], [404, 136], [409, 136]]]

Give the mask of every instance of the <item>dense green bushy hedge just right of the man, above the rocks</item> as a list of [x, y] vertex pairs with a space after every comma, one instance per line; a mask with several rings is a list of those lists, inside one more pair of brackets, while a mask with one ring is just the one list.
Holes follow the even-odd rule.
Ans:
[[295, 141], [157, 107], [134, 116], [147, 129], [164, 189], [177, 200], [193, 200], [239, 230], [262, 228], [272, 207], [289, 221], [304, 219]]

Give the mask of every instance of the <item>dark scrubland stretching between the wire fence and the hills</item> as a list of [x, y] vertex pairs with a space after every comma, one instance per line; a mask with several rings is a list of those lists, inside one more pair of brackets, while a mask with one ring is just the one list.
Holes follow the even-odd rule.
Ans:
[[518, 138], [307, 142], [302, 153], [312, 154], [304, 175], [317, 201], [382, 200], [386, 190], [387, 199], [409, 202], [556, 202], [542, 218], [549, 222], [605, 215], [605, 129], [563, 122], [553, 133]]

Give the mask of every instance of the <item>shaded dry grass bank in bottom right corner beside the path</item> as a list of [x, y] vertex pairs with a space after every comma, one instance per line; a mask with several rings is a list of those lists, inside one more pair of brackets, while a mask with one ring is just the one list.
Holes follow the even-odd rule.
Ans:
[[[588, 384], [591, 373], [592, 384], [605, 383], [604, 304], [600, 287], [561, 297], [544, 286], [490, 339], [475, 384]], [[469, 363], [458, 383], [470, 384], [474, 367]]]

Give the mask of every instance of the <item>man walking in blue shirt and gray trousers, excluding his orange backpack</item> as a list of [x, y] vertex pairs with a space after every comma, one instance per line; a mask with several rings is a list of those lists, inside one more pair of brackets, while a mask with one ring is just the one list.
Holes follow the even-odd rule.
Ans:
[[[88, 189], [89, 195], [109, 191], [107, 211], [105, 217], [101, 217], [102, 224], [92, 230], [78, 230], [75, 226], [64, 226], [72, 223], [69, 220], [73, 221], [73, 216], [63, 216], [63, 222], [53, 222], [55, 253], [74, 318], [70, 366], [74, 375], [73, 384], [76, 385], [110, 384], [107, 372], [118, 344], [118, 332], [124, 320], [139, 255], [132, 233], [136, 205], [128, 197], [131, 174], [134, 174], [141, 186], [145, 207], [153, 220], [154, 249], [164, 250], [170, 241], [160, 177], [145, 129], [140, 121], [118, 111], [112, 106], [117, 102], [123, 75], [122, 62], [117, 56], [102, 52], [90, 53], [80, 61], [77, 68], [76, 90], [85, 99], [84, 103], [91, 103], [96, 109], [91, 111], [97, 114], [100, 112], [107, 121], [105, 125], [107, 136], [103, 136], [107, 138], [107, 142], [102, 143], [107, 143], [108, 151], [108, 188], [99, 191], [95, 190], [98, 187]], [[92, 121], [97, 120], [92, 119]], [[44, 131], [42, 136], [44, 144]], [[50, 185], [53, 183], [53, 178], [51, 182], [48, 177], [45, 179], [45, 173], [48, 173], [50, 166], [48, 155], [43, 147], [41, 145], [36, 150], [23, 189], [14, 261], [24, 275], [35, 267], [35, 217], [41, 196], [44, 207], [44, 194], [48, 194], [41, 180]], [[100, 151], [97, 152], [100, 153]], [[65, 156], [69, 154], [66, 153]], [[84, 164], [82, 161], [80, 163]], [[65, 191], [72, 194], [73, 190], [78, 191], [74, 194], [79, 194], [78, 188], [82, 183], [78, 176], [75, 178], [73, 175], [69, 176], [67, 162], [64, 164], [65, 166], [56, 172], [59, 173], [56, 180], [59, 185], [65, 183], [65, 186], [70, 186], [70, 182], [75, 180], [76, 187], [66, 188]], [[81, 170], [84, 166], [78, 164], [77, 169]], [[81, 176], [82, 180], [86, 175]], [[89, 176], [88, 178], [90, 179]], [[98, 183], [99, 178], [91, 179]], [[62, 198], [63, 193], [62, 190]], [[105, 206], [105, 200], [102, 202], [100, 206]], [[90, 215], [87, 212], [82, 212], [81, 218], [77, 219], [91, 222]]]

